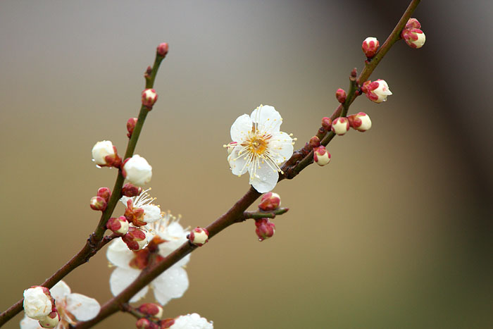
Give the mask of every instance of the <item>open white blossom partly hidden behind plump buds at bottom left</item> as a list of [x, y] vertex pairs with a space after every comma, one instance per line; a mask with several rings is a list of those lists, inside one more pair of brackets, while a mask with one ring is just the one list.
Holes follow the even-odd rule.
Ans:
[[[63, 281], [58, 282], [49, 291], [55, 299], [56, 310], [61, 317], [61, 321], [55, 327], [57, 329], [68, 329], [77, 321], [89, 321], [101, 309], [96, 299], [70, 292], [70, 287]], [[20, 321], [20, 329], [42, 329], [42, 326], [37, 320], [25, 316]]]

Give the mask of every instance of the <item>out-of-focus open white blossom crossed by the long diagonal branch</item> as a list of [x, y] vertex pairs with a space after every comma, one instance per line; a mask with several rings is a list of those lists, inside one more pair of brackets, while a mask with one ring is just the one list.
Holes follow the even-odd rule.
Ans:
[[[182, 228], [182, 225], [178, 221], [177, 218], [168, 212], [164, 216], [161, 216], [161, 219], [158, 221], [140, 227], [147, 231], [146, 235], [149, 241], [155, 235], [166, 240], [166, 242], [158, 245], [160, 256], [168, 256], [177, 247], [187, 242], [188, 232]], [[141, 250], [139, 252], [143, 251]], [[135, 259], [139, 256], [139, 252], [132, 252], [121, 239], [116, 239], [109, 245], [106, 257], [116, 266], [110, 277], [110, 289], [113, 295], [116, 296], [122, 292], [142, 271], [143, 268], [138, 268], [135, 262]], [[173, 298], [182, 297], [188, 289], [188, 275], [183, 267], [188, 263], [189, 259], [190, 255], [185, 256], [149, 284], [154, 290], [154, 297], [156, 297], [159, 304], [165, 305]], [[144, 297], [149, 290], [149, 286], [137, 292], [130, 299], [130, 302], [137, 302]]]

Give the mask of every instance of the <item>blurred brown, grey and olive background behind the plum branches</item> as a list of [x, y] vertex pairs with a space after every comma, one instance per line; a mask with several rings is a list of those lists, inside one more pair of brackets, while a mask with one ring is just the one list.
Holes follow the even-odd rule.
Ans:
[[[94, 230], [89, 199], [117, 173], [94, 166], [92, 146], [124, 152], [160, 42], [170, 51], [136, 153], [161, 208], [206, 226], [248, 190], [223, 149], [233, 121], [273, 105], [302, 147], [363, 68], [363, 39], [382, 44], [407, 4], [1, 1], [1, 311]], [[219, 329], [492, 328], [492, 8], [423, 1], [425, 46], [399, 42], [371, 77], [394, 94], [349, 111], [373, 128], [277, 185], [290, 211], [273, 238], [259, 243], [247, 221], [196, 250], [165, 316], [197, 312]], [[104, 304], [111, 271], [102, 251], [64, 280]], [[96, 328], [134, 323], [116, 314]]]

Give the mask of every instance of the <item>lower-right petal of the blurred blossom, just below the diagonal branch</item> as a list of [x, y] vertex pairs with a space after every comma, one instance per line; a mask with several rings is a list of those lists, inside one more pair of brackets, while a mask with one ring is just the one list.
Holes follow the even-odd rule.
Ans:
[[180, 266], [172, 266], [151, 283], [154, 297], [164, 305], [173, 298], [180, 298], [188, 289], [188, 275]]

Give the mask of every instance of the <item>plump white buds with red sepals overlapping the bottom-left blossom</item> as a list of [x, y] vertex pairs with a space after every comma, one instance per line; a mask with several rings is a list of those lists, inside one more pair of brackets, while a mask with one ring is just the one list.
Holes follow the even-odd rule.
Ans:
[[39, 321], [42, 328], [55, 328], [60, 322], [55, 299], [46, 287], [35, 285], [24, 290], [23, 306], [25, 315]]

